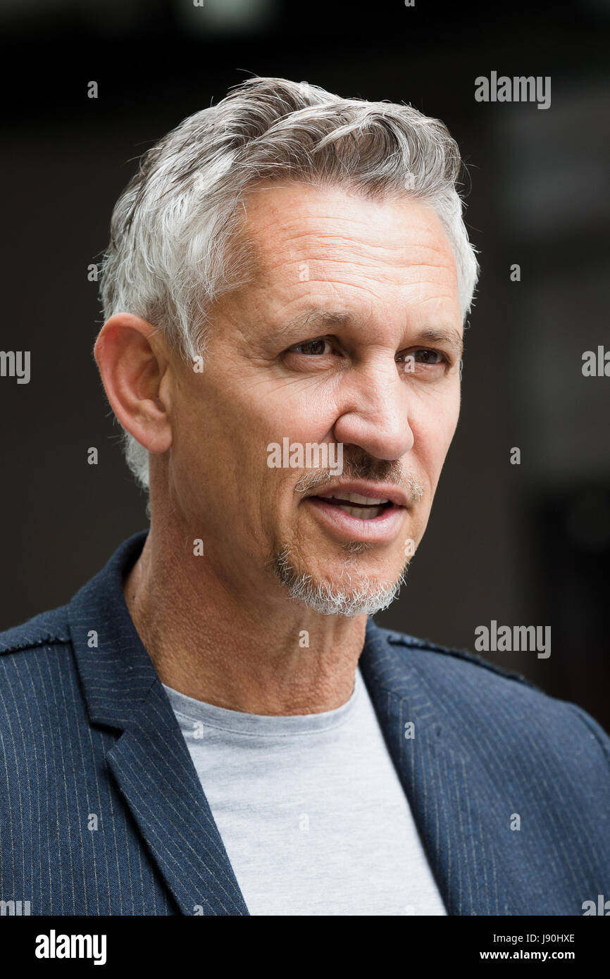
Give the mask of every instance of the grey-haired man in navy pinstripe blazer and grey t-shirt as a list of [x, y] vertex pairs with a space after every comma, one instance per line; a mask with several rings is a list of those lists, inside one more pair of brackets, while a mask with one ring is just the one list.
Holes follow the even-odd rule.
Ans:
[[252, 78], [120, 197], [95, 346], [150, 490], [2, 636], [1, 887], [50, 914], [581, 914], [610, 740], [376, 627], [458, 418], [477, 262], [446, 127]]

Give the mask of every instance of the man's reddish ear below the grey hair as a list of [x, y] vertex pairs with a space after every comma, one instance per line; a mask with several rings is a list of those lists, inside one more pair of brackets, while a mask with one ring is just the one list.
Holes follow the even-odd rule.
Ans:
[[171, 444], [169, 357], [155, 327], [120, 312], [104, 324], [94, 348], [102, 383], [122, 427], [149, 452]]

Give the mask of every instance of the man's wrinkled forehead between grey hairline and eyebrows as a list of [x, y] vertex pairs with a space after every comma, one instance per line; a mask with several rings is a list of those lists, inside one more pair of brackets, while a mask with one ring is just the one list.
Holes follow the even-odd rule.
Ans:
[[273, 182], [251, 191], [241, 223], [249, 274], [218, 314], [249, 343], [280, 343], [309, 314], [338, 315], [373, 347], [397, 346], [405, 331], [461, 336], [451, 246], [422, 202]]

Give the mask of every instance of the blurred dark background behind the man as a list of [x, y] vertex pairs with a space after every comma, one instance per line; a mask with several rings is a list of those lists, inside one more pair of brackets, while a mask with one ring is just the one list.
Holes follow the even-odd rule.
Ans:
[[[0, 629], [68, 601], [147, 525], [91, 352], [87, 266], [119, 191], [182, 118], [281, 75], [441, 117], [469, 167], [482, 278], [461, 420], [377, 621], [471, 650], [492, 620], [550, 626], [548, 659], [486, 655], [610, 728], [610, 377], [582, 373], [610, 350], [610, 0], [2, 0], [0, 34], [0, 348], [31, 351], [29, 384], [0, 378]], [[493, 70], [550, 75], [550, 108], [477, 103]]]

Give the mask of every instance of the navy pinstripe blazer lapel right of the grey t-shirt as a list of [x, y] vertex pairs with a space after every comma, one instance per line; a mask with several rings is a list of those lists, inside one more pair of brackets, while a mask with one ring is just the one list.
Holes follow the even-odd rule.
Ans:
[[[369, 619], [360, 671], [446, 911], [523, 913], [523, 871], [511, 856], [507, 800], [493, 791], [460, 724], [432, 701], [425, 676], [409, 663], [408, 647], [395, 642]], [[409, 722], [412, 738], [405, 737]]]

